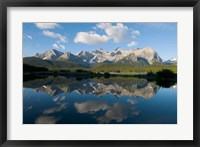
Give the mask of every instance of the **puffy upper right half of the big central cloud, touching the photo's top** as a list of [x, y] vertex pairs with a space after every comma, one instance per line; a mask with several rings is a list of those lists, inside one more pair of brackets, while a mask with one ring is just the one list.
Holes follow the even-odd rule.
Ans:
[[117, 23], [116, 25], [112, 25], [111, 23], [98, 23], [96, 26], [97, 28], [104, 30], [105, 33], [116, 43], [129, 38], [128, 27], [122, 23]]

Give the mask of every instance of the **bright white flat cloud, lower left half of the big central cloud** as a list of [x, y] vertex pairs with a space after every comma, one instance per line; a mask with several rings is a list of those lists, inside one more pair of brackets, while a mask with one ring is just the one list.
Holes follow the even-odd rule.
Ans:
[[102, 44], [109, 41], [109, 37], [106, 35], [99, 35], [95, 32], [79, 32], [74, 38], [75, 43], [85, 43], [85, 44]]

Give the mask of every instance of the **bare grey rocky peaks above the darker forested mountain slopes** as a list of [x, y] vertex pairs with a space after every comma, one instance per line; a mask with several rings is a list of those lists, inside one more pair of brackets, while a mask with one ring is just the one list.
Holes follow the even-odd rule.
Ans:
[[[118, 47], [110, 52], [106, 52], [103, 48], [100, 48], [94, 51], [80, 51], [77, 54], [72, 54], [70, 52], [63, 53], [53, 49], [42, 54], [37, 53], [35, 57], [43, 60], [70, 60], [73, 62], [84, 62], [87, 64], [96, 64], [102, 62], [116, 63], [122, 59], [125, 63], [128, 63], [129, 61], [137, 62], [138, 59], [143, 59], [143, 61], [147, 62], [148, 64], [153, 64], [154, 62], [162, 63], [162, 59], [152, 48], [124, 50]], [[134, 58], [134, 60], [130, 60], [130, 58]]]

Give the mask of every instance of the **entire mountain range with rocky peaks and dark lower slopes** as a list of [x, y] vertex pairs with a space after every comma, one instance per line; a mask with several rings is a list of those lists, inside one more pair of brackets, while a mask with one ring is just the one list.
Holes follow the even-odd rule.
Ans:
[[94, 51], [80, 51], [77, 54], [60, 52], [52, 49], [44, 53], [36, 53], [32, 57], [25, 57], [24, 64], [43, 66], [47, 68], [65, 67], [91, 67], [99, 63], [105, 64], [130, 64], [135, 66], [152, 64], [177, 64], [177, 59], [172, 58], [163, 61], [158, 53], [152, 48], [138, 48], [123, 50], [116, 48], [111, 52], [104, 49]]

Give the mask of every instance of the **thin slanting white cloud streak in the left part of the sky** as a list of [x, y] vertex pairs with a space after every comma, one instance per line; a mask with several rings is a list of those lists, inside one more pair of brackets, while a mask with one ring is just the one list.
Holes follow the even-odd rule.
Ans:
[[49, 31], [49, 30], [44, 30], [42, 33], [43, 33], [44, 36], [56, 38], [56, 39], [58, 39], [60, 42], [63, 42], [63, 43], [66, 43], [66, 42], [67, 42], [67, 37], [65, 37], [65, 36], [63, 36], [63, 35], [61, 35], [61, 34], [54, 33], [54, 32], [51, 32], [51, 31]]

